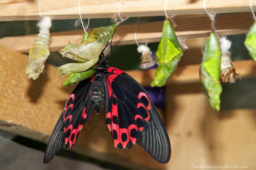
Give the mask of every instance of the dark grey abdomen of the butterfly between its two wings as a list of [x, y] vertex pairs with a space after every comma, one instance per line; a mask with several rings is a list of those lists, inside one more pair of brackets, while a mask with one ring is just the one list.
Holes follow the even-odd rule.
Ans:
[[104, 76], [102, 74], [95, 74], [90, 90], [91, 100], [97, 114], [100, 112], [100, 107], [105, 93], [103, 78]]

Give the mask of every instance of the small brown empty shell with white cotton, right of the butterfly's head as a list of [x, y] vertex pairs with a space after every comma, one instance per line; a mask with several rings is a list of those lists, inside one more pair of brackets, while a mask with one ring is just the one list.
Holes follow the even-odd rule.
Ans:
[[142, 45], [138, 46], [137, 51], [139, 53], [142, 53], [141, 63], [140, 63], [141, 69], [147, 69], [156, 64], [156, 60], [154, 58], [152, 58], [152, 56], [151, 56], [152, 52], [150, 51], [149, 47], [142, 44]]

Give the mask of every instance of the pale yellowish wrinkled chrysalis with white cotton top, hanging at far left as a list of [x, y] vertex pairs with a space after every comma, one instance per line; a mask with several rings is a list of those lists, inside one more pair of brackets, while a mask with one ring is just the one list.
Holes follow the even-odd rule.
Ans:
[[36, 37], [36, 41], [34, 42], [31, 50], [28, 54], [28, 64], [26, 65], [26, 73], [28, 74], [28, 78], [33, 78], [36, 80], [38, 76], [44, 70], [44, 63], [48, 56], [49, 52], [49, 41], [50, 41], [50, 27], [51, 27], [51, 18], [45, 17], [40, 20], [37, 24], [39, 27], [39, 34]]

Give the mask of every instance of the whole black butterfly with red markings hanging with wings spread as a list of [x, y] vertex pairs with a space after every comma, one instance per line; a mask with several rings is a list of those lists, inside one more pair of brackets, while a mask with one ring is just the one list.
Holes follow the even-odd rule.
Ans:
[[75, 146], [92, 109], [98, 114], [103, 100], [106, 124], [115, 147], [131, 148], [139, 144], [157, 162], [169, 162], [170, 140], [147, 92], [127, 73], [110, 67], [108, 61], [102, 53], [94, 75], [80, 81], [68, 98], [51, 134], [44, 163], [48, 163], [63, 145]]

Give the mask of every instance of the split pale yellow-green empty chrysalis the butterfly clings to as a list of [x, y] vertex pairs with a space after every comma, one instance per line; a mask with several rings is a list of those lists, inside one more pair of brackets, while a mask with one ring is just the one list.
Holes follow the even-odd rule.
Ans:
[[71, 73], [79, 73], [86, 71], [94, 66], [98, 60], [100, 53], [111, 37], [116, 28], [116, 24], [106, 27], [99, 27], [92, 30], [85, 41], [80, 44], [66, 44], [65, 48], [59, 51], [63, 57], [73, 60], [82, 61], [83, 63], [67, 63], [57, 67], [57, 71], [61, 71], [60, 76], [66, 76]]

